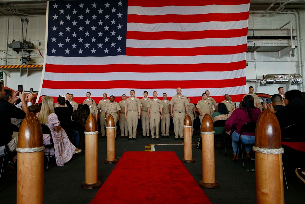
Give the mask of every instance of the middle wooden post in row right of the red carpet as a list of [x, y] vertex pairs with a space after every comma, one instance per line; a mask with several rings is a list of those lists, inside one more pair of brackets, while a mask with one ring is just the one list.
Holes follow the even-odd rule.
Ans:
[[204, 188], [218, 188], [215, 181], [215, 150], [214, 150], [214, 125], [208, 113], [203, 116], [201, 123], [202, 144], [202, 180], [199, 186]]

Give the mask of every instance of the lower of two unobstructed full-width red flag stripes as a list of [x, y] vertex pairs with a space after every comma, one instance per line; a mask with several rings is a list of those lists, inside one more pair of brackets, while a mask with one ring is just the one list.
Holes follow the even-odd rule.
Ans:
[[[124, 85], [122, 85], [124, 84]], [[132, 81], [132, 80], [117, 80], [117, 81], [82, 81], [77, 83], [75, 81], [49, 81], [44, 80], [42, 88], [52, 88], [52, 89], [120, 89], [122, 87], [130, 87], [133, 89], [163, 89], [164, 84], [166, 88], [177, 88], [181, 85], [181, 81]], [[183, 88], [223, 88], [230, 86], [244, 86], [246, 85], [246, 77], [228, 79], [228, 80], [188, 80], [184, 84]]]

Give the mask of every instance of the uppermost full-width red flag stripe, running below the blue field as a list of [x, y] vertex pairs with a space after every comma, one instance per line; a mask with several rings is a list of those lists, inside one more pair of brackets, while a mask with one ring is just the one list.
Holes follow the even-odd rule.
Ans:
[[[187, 70], [185, 70], [187, 66]], [[246, 67], [246, 60], [231, 63], [204, 63], [189, 65], [134, 65], [134, 64], [114, 64], [114, 65], [45, 65], [45, 72], [52, 73], [109, 73], [116, 72], [132, 72], [154, 73], [158, 72], [224, 72], [234, 71]], [[204, 68], [204, 69], [203, 69]]]

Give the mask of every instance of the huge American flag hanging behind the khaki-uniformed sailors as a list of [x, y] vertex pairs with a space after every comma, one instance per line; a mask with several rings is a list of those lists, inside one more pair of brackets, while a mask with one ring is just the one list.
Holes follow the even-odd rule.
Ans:
[[52, 1], [40, 95], [103, 93], [169, 99], [181, 87], [193, 103], [246, 93], [250, 0]]

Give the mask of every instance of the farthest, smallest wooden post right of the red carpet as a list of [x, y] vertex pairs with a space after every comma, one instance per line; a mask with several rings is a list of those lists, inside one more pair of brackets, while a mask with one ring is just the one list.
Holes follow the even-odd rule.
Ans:
[[192, 152], [192, 119], [186, 114], [184, 118], [184, 158], [181, 160], [184, 163], [194, 163]]

